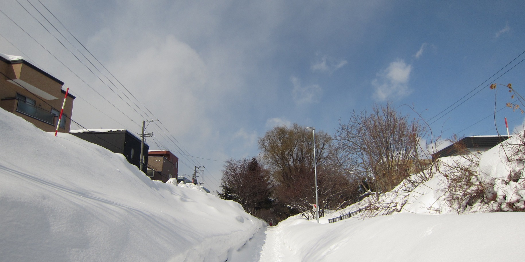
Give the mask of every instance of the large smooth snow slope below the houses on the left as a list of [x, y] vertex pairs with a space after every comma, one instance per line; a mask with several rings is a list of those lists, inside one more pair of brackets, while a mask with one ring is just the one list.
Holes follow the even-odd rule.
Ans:
[[0, 109], [0, 260], [225, 261], [263, 223]]

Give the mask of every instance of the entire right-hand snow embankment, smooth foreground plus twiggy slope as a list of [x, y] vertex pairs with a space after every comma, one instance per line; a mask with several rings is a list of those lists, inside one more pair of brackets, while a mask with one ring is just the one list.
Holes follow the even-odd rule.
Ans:
[[525, 212], [497, 211], [523, 209], [524, 147], [515, 136], [479, 165], [440, 159], [437, 169], [405, 179], [379, 201], [365, 198], [329, 215], [372, 206], [343, 221], [289, 217], [278, 225], [289, 261], [521, 261]]

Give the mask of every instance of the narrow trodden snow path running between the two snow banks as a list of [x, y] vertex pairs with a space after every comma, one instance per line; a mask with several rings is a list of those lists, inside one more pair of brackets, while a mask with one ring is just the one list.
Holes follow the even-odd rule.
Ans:
[[293, 252], [282, 242], [278, 226], [261, 228], [243, 247], [228, 256], [228, 262], [295, 261]]

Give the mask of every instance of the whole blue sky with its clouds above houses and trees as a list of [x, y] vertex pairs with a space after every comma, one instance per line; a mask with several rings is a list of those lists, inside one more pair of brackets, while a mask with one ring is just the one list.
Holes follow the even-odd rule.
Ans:
[[[64, 81], [79, 97], [72, 118], [82, 126], [139, 133], [144, 118], [158, 117], [173, 138], [152, 124], [150, 146], [175, 151], [180, 174], [206, 166], [212, 190], [223, 163], [206, 159], [257, 155], [257, 138], [274, 125], [333, 133], [353, 110], [387, 101], [404, 114], [415, 116], [406, 104], [432, 118], [525, 51], [523, 1], [40, 1], [152, 114], [125, 104], [15, 0], [0, 10], [69, 69], [4, 14], [0, 52], [24, 56]], [[104, 79], [29, 5], [90, 58], [38, 0], [18, 2]], [[496, 82], [525, 93], [524, 58], [490, 80], [517, 64]], [[490, 82], [433, 123], [433, 132], [496, 134], [493, 117], [472, 125], [495, 103], [499, 110], [511, 101], [504, 89], [495, 98]], [[510, 109], [497, 113], [499, 125], [503, 117], [511, 129], [523, 122]]]

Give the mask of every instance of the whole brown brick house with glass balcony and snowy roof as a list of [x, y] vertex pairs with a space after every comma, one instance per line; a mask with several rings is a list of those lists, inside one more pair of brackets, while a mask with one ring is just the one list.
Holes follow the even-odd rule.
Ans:
[[[24, 58], [0, 53], [0, 107], [46, 132], [55, 132], [58, 124], [66, 93], [62, 85]], [[69, 132], [74, 99], [68, 94], [58, 132]]]

